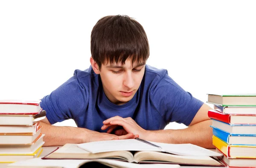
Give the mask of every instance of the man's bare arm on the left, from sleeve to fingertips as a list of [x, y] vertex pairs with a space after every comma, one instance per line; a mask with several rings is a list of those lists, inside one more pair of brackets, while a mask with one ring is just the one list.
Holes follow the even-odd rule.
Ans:
[[52, 126], [47, 118], [41, 120], [40, 125], [43, 126], [41, 132], [45, 134], [44, 146], [63, 146], [66, 143], [87, 143], [100, 140], [118, 140], [139, 137], [132, 133], [117, 136], [72, 126]]

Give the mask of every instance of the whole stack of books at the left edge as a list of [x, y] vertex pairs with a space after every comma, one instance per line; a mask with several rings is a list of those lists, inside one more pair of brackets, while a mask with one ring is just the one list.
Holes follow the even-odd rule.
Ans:
[[[41, 101], [0, 101], [0, 163], [38, 157], [44, 134], [39, 120], [46, 116]], [[1, 167], [1, 166], [0, 166]]]

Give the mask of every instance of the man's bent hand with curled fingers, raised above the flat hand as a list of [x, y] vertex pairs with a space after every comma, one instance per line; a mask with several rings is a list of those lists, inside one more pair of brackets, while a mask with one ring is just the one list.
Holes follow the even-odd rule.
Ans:
[[138, 135], [140, 138], [145, 138], [147, 135], [147, 130], [141, 128], [131, 117], [122, 118], [119, 116], [115, 116], [103, 121], [102, 130], [105, 130], [109, 127], [107, 133], [111, 133], [113, 129], [117, 126], [122, 126], [124, 129], [119, 129], [115, 131], [116, 135], [124, 135], [133, 133], [134, 136]]

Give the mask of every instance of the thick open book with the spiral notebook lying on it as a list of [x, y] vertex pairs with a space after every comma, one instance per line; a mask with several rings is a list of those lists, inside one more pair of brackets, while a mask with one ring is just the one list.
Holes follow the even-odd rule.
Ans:
[[[163, 148], [152, 144], [145, 143], [137, 140], [108, 140], [93, 143], [83, 144], [65, 144], [58, 150], [53, 151], [51, 154], [42, 159], [99, 159], [111, 158], [115, 160], [122, 160], [126, 162], [136, 163], [168, 163], [168, 164], [181, 164], [181, 165], [212, 165], [222, 166], [218, 160], [210, 156], [222, 156], [222, 154], [194, 146], [192, 144], [166, 144], [157, 143], [162, 145], [163, 148], [175, 148], [184, 151], [183, 154], [187, 156], [170, 154], [160, 152]], [[155, 145], [155, 146], [151, 146]], [[169, 146], [169, 147], [168, 147]], [[85, 149], [85, 148], [87, 149]], [[84, 149], [82, 149], [84, 148]], [[93, 150], [92, 150], [93, 149]], [[194, 150], [194, 151], [193, 151]], [[175, 151], [175, 150], [174, 150]], [[190, 156], [188, 156], [190, 155]]]

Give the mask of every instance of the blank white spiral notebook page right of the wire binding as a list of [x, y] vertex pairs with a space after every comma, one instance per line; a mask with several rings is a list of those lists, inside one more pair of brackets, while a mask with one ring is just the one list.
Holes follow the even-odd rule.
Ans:
[[202, 148], [200, 146], [196, 146], [190, 143], [185, 144], [170, 144], [170, 143], [156, 143], [151, 142], [163, 148], [163, 151], [177, 154], [177, 155], [184, 155], [184, 156], [223, 156], [223, 154], [219, 154], [215, 151], [211, 151], [206, 148]]

